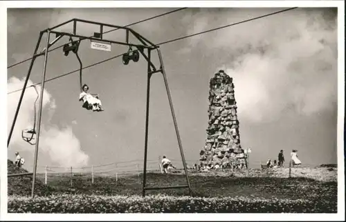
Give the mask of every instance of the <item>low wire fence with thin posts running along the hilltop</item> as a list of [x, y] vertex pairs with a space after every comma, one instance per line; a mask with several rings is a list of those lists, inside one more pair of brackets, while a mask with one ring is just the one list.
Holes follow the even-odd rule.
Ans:
[[[171, 159], [174, 164], [174, 169], [170, 170], [173, 173], [184, 174], [183, 164], [181, 160]], [[286, 161], [282, 167], [267, 166], [266, 161], [252, 161], [248, 168], [240, 165], [230, 168], [219, 169], [201, 169], [194, 168], [194, 164], [199, 165], [199, 160], [186, 160], [189, 174], [224, 174], [233, 176], [246, 176], [246, 177], [313, 177], [313, 168], [316, 164], [300, 164], [293, 165], [291, 161]], [[176, 164], [175, 164], [176, 163]], [[315, 170], [316, 171], [316, 170]], [[148, 160], [147, 172], [163, 173], [161, 159]], [[115, 182], [125, 176], [134, 176], [134, 183], [141, 183], [141, 174], [143, 173], [143, 160], [133, 160], [117, 163], [106, 163], [101, 165], [89, 165], [79, 167], [61, 167], [61, 166], [37, 166], [37, 176], [44, 181], [46, 185], [58, 183], [87, 183], [93, 184], [96, 182], [102, 183], [104, 177], [111, 177]], [[316, 174], [316, 176], [320, 174]], [[137, 178], [137, 179], [136, 179]]]

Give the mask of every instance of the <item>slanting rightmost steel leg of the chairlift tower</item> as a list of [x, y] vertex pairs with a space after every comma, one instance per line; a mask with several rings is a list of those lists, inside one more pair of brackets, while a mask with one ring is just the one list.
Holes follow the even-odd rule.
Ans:
[[181, 139], [180, 139], [180, 135], [179, 135], [178, 124], [176, 123], [176, 117], [174, 114], [174, 108], [173, 108], [172, 98], [171, 98], [171, 94], [170, 94], [170, 89], [168, 88], [168, 81], [167, 81], [167, 77], [166, 77], [166, 73], [165, 73], [165, 67], [163, 66], [163, 59], [162, 59], [160, 48], [156, 48], [156, 50], [158, 52], [158, 59], [160, 60], [160, 64], [161, 64], [161, 72], [163, 74], [163, 80], [165, 81], [165, 87], [166, 87], [166, 91], [167, 91], [168, 101], [170, 102], [170, 109], [172, 112], [173, 123], [174, 123], [175, 132], [176, 132], [176, 139], [178, 139], [178, 145], [179, 145], [179, 150], [180, 150], [180, 154], [181, 154], [181, 159], [183, 161], [183, 166], [184, 166], [184, 170], [185, 170], [186, 182], [188, 183], [190, 196], [192, 196], [191, 185], [190, 185], [190, 180], [189, 180], [189, 176], [188, 176], [188, 168], [186, 168], [186, 162], [185, 162], [183, 147], [181, 145]]

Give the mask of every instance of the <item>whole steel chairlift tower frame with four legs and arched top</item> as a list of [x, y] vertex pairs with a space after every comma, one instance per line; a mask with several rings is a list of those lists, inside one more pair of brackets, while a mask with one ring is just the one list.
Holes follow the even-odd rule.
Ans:
[[[61, 26], [65, 26], [67, 24], [71, 24], [73, 23], [73, 30], [72, 33], [70, 32], [58, 32], [56, 31], [57, 28], [60, 28]], [[94, 32], [93, 37], [86, 37], [83, 35], [79, 35], [76, 34], [77, 28], [78, 28], [78, 23], [87, 23], [87, 24], [93, 24], [95, 26], [98, 26], [100, 32]], [[125, 41], [113, 41], [113, 40], [109, 40], [109, 39], [104, 39], [103, 38], [103, 29], [104, 28], [116, 28], [117, 30], [125, 30]], [[46, 47], [42, 50], [42, 52], [37, 52], [38, 48], [39, 48], [39, 44], [42, 41], [42, 36], [43, 34], [46, 33], [47, 35], [47, 39], [46, 39]], [[51, 34], [55, 34], [55, 39], [49, 43], [49, 39], [51, 37]], [[131, 36], [135, 37], [140, 44], [136, 44], [136, 43], [130, 43], [129, 42], [129, 35], [131, 34]], [[118, 45], [123, 45], [123, 46], [129, 46], [129, 47], [134, 47], [136, 48], [136, 50], [138, 50], [140, 52], [140, 54], [142, 54], [142, 56], [145, 58], [145, 60], [147, 61], [147, 107], [146, 107], [146, 117], [145, 117], [145, 144], [144, 144], [144, 163], [143, 163], [143, 189], [142, 189], [142, 194], [143, 196], [145, 196], [145, 191], [146, 190], [161, 190], [161, 189], [170, 189], [170, 188], [188, 188], [190, 195], [191, 193], [191, 186], [190, 186], [190, 181], [189, 181], [189, 177], [188, 177], [188, 169], [186, 167], [186, 162], [185, 162], [185, 157], [183, 154], [183, 148], [181, 145], [181, 138], [179, 135], [179, 130], [178, 130], [178, 125], [176, 123], [176, 117], [174, 114], [174, 108], [173, 108], [173, 103], [172, 103], [172, 97], [170, 95], [170, 89], [168, 88], [168, 81], [167, 81], [167, 77], [165, 74], [165, 68], [163, 66], [163, 58], [161, 55], [161, 51], [159, 46], [156, 46], [154, 43], [150, 42], [149, 40], [145, 39], [145, 37], [143, 37], [142, 35], [138, 34], [138, 32], [132, 30], [131, 28], [127, 28], [127, 27], [123, 27], [123, 26], [114, 26], [111, 24], [107, 24], [107, 23], [99, 23], [99, 22], [95, 22], [95, 21], [87, 21], [87, 20], [82, 20], [82, 19], [71, 19], [69, 21], [66, 21], [64, 23], [60, 23], [57, 26], [54, 26], [53, 28], [47, 28], [46, 30], [42, 30], [41, 32], [39, 32], [39, 39], [37, 41], [34, 53], [33, 53], [33, 59], [31, 59], [31, 63], [29, 66], [29, 70], [28, 70], [28, 74], [26, 75], [26, 80], [24, 82], [23, 85], [23, 89], [21, 90], [21, 96], [19, 98], [19, 102], [17, 105], [17, 110], [15, 112], [15, 117], [13, 119], [12, 122], [12, 126], [10, 128], [10, 133], [8, 135], [8, 142], [7, 145], [9, 146], [10, 144], [10, 139], [12, 137], [12, 132], [15, 128], [15, 123], [17, 121], [17, 116], [19, 113], [19, 109], [21, 107], [21, 101], [23, 100], [24, 97], [24, 92], [26, 90], [26, 85], [28, 84], [28, 80], [30, 77], [30, 73], [31, 70], [33, 69], [33, 64], [35, 62], [35, 59], [37, 57], [40, 57], [42, 55], [44, 55], [44, 65], [43, 65], [43, 72], [42, 72], [42, 88], [41, 88], [41, 94], [40, 94], [40, 99], [39, 99], [39, 114], [38, 114], [38, 118], [37, 118], [37, 137], [36, 137], [36, 144], [35, 144], [35, 156], [34, 156], [34, 167], [33, 167], [33, 173], [25, 173], [25, 174], [8, 174], [8, 177], [10, 176], [28, 176], [28, 175], [33, 175], [33, 186], [32, 186], [32, 190], [31, 190], [31, 197], [33, 198], [35, 196], [35, 181], [36, 181], [36, 172], [37, 172], [37, 156], [38, 156], [38, 149], [39, 149], [39, 134], [40, 134], [40, 127], [41, 127], [41, 117], [42, 117], [42, 101], [43, 101], [43, 94], [44, 94], [44, 83], [45, 83], [45, 77], [46, 77], [46, 67], [47, 67], [47, 60], [48, 60], [48, 49], [51, 48], [51, 46], [53, 46], [57, 41], [59, 41], [62, 37], [69, 37], [70, 39], [72, 37], [77, 37], [80, 39], [80, 41], [84, 40], [84, 39], [89, 39], [91, 41], [98, 41], [98, 42], [102, 42], [102, 43], [108, 43], [108, 44], [118, 44]], [[158, 59], [160, 61], [160, 67], [156, 68], [156, 66], [154, 65], [154, 63], [152, 63], [151, 60], [151, 53], [152, 51], [155, 51], [158, 53]], [[77, 53], [76, 53], [77, 54]], [[77, 54], [78, 57], [78, 54]], [[78, 60], [80, 61], [79, 57]], [[82, 63], [80, 61], [80, 65], [81, 65], [81, 69], [80, 72], [82, 72]], [[163, 80], [165, 82], [165, 88], [166, 88], [166, 92], [167, 92], [167, 97], [168, 97], [168, 101], [170, 103], [170, 110], [172, 113], [172, 118], [173, 118], [173, 122], [174, 122], [174, 128], [176, 131], [176, 138], [178, 139], [178, 145], [179, 145], [179, 150], [181, 153], [181, 159], [183, 161], [183, 167], [185, 170], [185, 177], [186, 177], [186, 181], [187, 181], [187, 185], [176, 185], [176, 186], [169, 186], [169, 187], [152, 187], [152, 188], [148, 188], [146, 186], [146, 173], [147, 173], [147, 143], [148, 143], [148, 125], [149, 125], [149, 96], [150, 96], [150, 79], [152, 77], [152, 74], [155, 74], [157, 72], [161, 72], [163, 74]]]

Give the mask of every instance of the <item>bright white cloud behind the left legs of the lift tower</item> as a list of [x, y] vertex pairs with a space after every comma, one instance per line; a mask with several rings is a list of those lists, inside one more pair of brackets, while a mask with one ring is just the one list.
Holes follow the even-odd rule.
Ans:
[[[8, 91], [17, 90], [23, 87], [24, 79], [20, 80], [16, 77], [11, 77], [8, 80]], [[28, 85], [32, 85], [32, 81], [28, 81]], [[37, 85], [37, 91], [41, 92], [41, 87]], [[8, 130], [12, 125], [17, 103], [19, 101], [20, 92], [8, 94]], [[10, 150], [23, 150], [33, 152], [33, 146], [23, 141], [21, 138], [21, 130], [31, 129], [34, 124], [34, 103], [37, 99], [37, 93], [33, 87], [26, 89], [21, 109], [17, 117], [15, 130], [13, 131]], [[43, 152], [49, 159], [60, 166], [77, 166], [86, 165], [89, 157], [80, 148], [80, 141], [75, 137], [71, 128], [57, 128], [52, 125], [49, 120], [54, 113], [57, 105], [55, 100], [44, 90], [42, 113], [48, 112], [48, 121], [42, 120], [41, 134], [39, 138], [39, 150]], [[39, 99], [37, 100], [37, 109], [39, 106]], [[38, 112], [38, 110], [37, 110]]]

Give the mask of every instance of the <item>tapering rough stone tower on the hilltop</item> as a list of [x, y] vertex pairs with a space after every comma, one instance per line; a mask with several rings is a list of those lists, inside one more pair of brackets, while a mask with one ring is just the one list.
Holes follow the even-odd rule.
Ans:
[[199, 153], [199, 164], [202, 168], [215, 165], [230, 168], [234, 166], [233, 163], [245, 164], [244, 150], [240, 145], [233, 78], [224, 70], [219, 70], [210, 79], [209, 87], [207, 138], [204, 149]]

